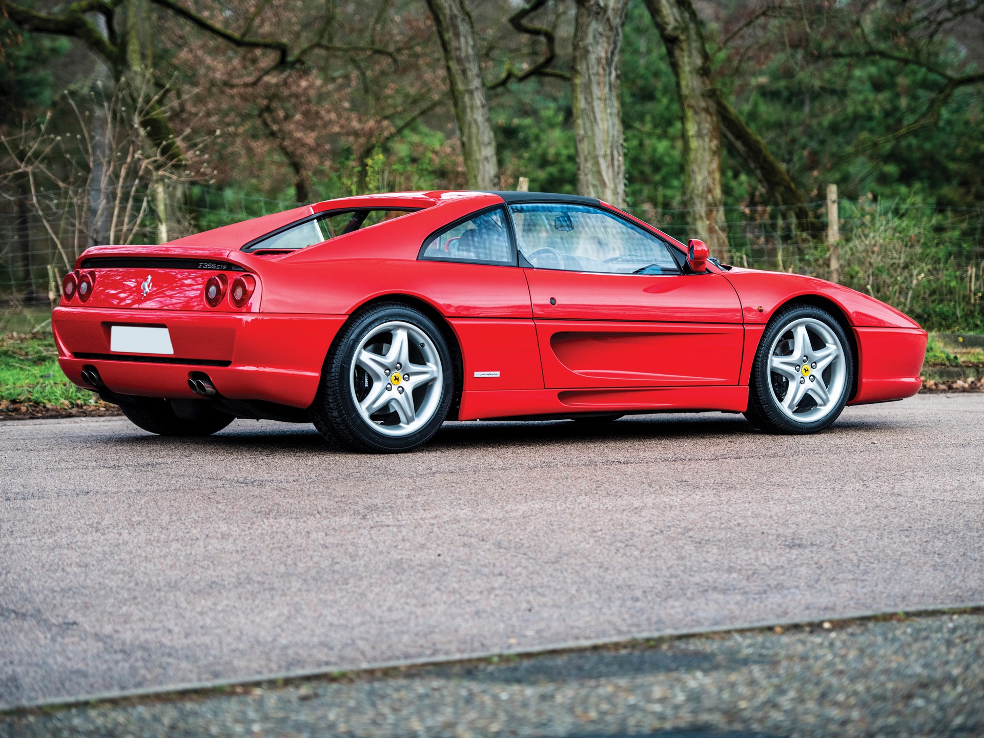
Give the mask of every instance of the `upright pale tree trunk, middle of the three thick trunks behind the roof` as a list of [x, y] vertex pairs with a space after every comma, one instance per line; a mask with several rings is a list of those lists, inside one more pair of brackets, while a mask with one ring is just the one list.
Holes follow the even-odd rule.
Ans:
[[574, 31], [574, 129], [578, 192], [625, 206], [622, 27], [628, 0], [578, 0]]

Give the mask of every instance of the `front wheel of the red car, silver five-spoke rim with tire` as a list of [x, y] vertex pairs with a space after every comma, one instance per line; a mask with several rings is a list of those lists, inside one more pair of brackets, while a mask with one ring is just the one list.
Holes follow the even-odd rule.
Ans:
[[756, 352], [745, 416], [772, 433], [816, 433], [840, 415], [853, 379], [851, 344], [834, 317], [812, 305], [784, 308]]

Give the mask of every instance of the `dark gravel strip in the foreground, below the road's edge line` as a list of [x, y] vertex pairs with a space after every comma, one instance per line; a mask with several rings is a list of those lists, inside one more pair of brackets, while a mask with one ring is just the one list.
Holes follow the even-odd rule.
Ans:
[[979, 736], [984, 615], [722, 634], [0, 717], [0, 736]]

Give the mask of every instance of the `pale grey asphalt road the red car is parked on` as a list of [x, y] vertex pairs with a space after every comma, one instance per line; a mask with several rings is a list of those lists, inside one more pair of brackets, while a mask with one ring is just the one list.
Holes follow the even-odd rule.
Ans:
[[449, 424], [0, 424], [0, 705], [984, 601], [984, 395]]

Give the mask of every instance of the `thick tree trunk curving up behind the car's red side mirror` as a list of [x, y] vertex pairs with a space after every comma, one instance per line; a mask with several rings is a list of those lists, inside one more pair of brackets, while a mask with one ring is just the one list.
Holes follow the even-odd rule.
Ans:
[[728, 258], [721, 195], [721, 121], [714, 100], [704, 31], [690, 0], [646, 0], [676, 77], [683, 123], [683, 197], [690, 235], [712, 256]]

